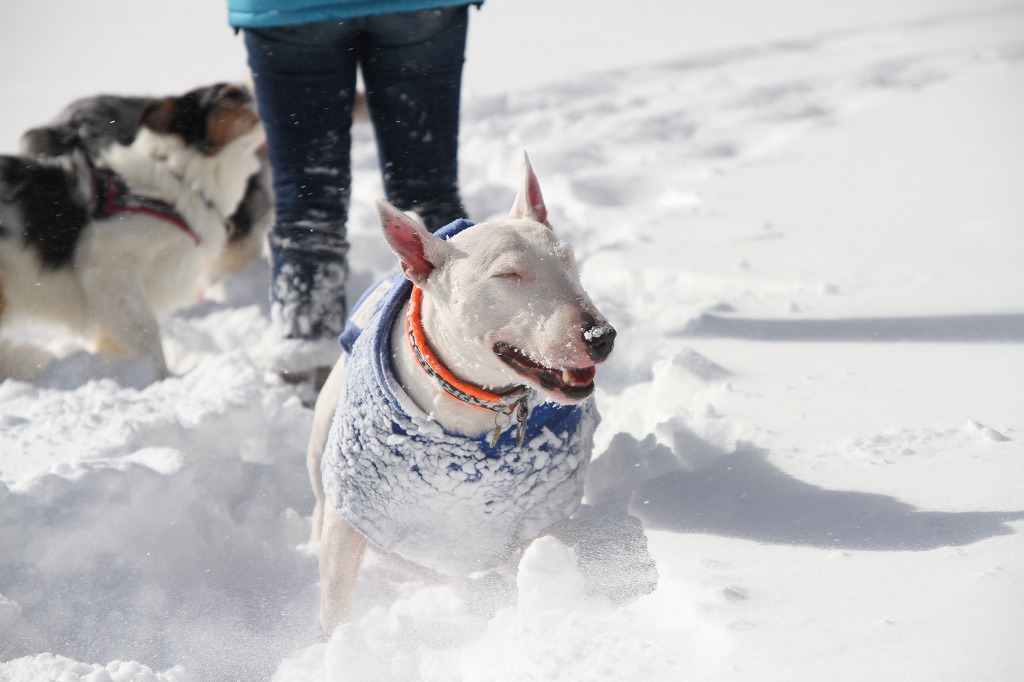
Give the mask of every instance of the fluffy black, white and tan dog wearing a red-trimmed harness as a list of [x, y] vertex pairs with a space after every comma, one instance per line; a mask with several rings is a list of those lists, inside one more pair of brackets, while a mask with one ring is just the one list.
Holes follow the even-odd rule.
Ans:
[[[166, 376], [159, 319], [220, 258], [263, 139], [249, 94], [218, 84], [142, 103], [131, 143], [95, 165], [88, 150], [0, 157], [0, 326], [62, 323]], [[111, 210], [116, 186], [134, 209]]]

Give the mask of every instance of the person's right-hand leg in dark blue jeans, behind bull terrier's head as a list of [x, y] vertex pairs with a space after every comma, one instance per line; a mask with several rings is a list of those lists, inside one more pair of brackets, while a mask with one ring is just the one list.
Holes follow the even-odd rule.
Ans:
[[466, 217], [458, 152], [467, 9], [370, 16], [359, 41], [385, 193], [430, 229]]

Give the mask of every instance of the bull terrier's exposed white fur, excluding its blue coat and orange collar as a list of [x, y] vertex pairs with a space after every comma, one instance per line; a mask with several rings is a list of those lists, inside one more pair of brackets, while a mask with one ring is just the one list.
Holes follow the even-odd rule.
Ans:
[[[509, 218], [486, 223], [485, 228], [472, 228], [445, 242], [383, 200], [378, 202], [378, 215], [406, 276], [424, 291], [424, 331], [445, 367], [492, 391], [530, 384], [547, 399], [579, 401], [527, 381], [493, 350], [496, 342], [503, 341], [546, 367], [593, 367], [581, 338], [580, 319], [587, 315], [603, 321], [580, 284], [572, 250], [548, 225], [528, 158]], [[389, 344], [395, 377], [423, 412], [453, 433], [477, 436], [495, 428], [493, 413], [456, 400], [428, 379], [409, 347], [403, 313], [394, 323]], [[325, 634], [350, 619], [352, 592], [368, 542], [326, 502], [321, 474], [344, 380], [343, 357], [321, 391], [307, 451], [316, 496], [312, 542], [319, 543], [319, 620]]]

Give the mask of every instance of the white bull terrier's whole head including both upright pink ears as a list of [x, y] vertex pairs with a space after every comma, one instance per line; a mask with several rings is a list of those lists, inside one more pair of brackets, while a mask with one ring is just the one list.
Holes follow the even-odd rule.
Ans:
[[509, 217], [449, 241], [384, 200], [377, 211], [406, 276], [423, 289], [423, 326], [449, 370], [493, 390], [528, 384], [558, 402], [593, 393], [615, 331], [551, 228], [528, 157]]

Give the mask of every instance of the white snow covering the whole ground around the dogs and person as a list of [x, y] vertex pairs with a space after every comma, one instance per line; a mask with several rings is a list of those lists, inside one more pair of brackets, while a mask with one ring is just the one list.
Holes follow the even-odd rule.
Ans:
[[[0, 679], [1024, 679], [1024, 5], [593, 4], [473, 13], [462, 176], [502, 214], [528, 150], [615, 325], [588, 502], [642, 520], [657, 589], [612, 604], [554, 538], [494, 579], [371, 555], [316, 643], [311, 413], [262, 369], [257, 263], [167, 321], [162, 382], [30, 336]], [[51, 5], [0, 10], [4, 151], [244, 72], [218, 3]], [[353, 163], [350, 301], [392, 265], [366, 128]]]

